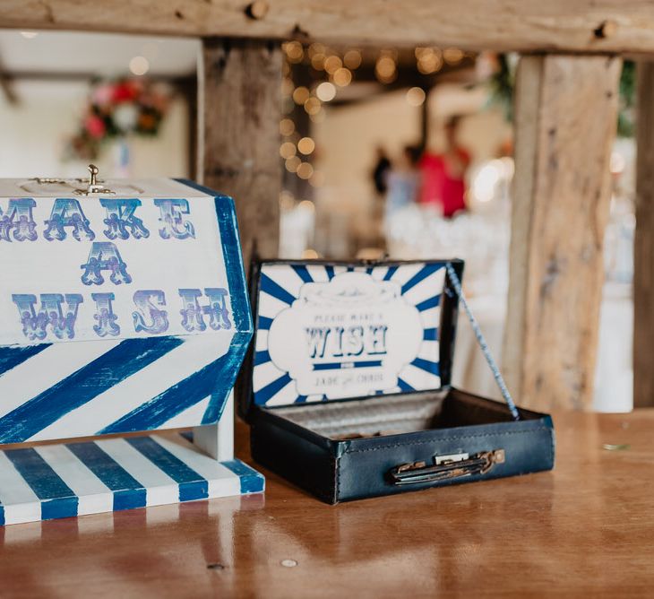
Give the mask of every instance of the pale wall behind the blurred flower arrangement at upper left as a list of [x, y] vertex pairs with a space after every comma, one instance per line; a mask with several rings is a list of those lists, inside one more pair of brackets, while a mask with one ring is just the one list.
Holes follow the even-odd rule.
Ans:
[[[16, 82], [19, 104], [0, 93], [0, 177], [85, 177], [86, 161], [64, 161], [65, 140], [79, 126], [88, 93], [83, 82]], [[116, 147], [96, 163], [107, 177], [187, 177], [188, 110], [171, 102], [159, 136], [129, 140], [128, 172], [118, 169]]]

